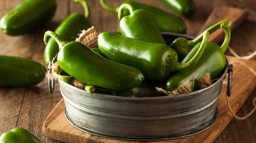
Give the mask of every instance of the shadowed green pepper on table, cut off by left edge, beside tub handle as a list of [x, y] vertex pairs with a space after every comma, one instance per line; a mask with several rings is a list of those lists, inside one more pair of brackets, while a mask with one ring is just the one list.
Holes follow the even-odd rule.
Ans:
[[0, 55], [0, 63], [0, 87], [32, 86], [45, 77], [45, 67], [27, 58]]

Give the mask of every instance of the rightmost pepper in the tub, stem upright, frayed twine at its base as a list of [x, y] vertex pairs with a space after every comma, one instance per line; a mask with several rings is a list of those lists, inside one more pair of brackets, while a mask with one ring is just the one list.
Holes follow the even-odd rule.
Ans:
[[[173, 91], [179, 85], [183, 84], [188, 79], [195, 77], [197, 73], [199, 75], [194, 80], [193, 90], [198, 90], [200, 88], [199, 80], [202, 79], [201, 75], [210, 73], [211, 79], [216, 79], [220, 76], [221, 72], [225, 67], [225, 56], [224, 52], [226, 51], [229, 41], [230, 41], [230, 29], [227, 24], [221, 24], [221, 27], [225, 29], [226, 36], [222, 46], [218, 46], [215, 43], [207, 42], [206, 48], [203, 51], [203, 55], [199, 61], [191, 68], [184, 71], [176, 71], [166, 82], [166, 90], [168, 92]], [[189, 54], [181, 61], [184, 63], [190, 60], [199, 48], [200, 43], [198, 43]]]

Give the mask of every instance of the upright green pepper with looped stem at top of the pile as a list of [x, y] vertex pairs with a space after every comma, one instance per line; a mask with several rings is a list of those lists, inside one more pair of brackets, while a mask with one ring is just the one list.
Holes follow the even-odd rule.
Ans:
[[[130, 15], [123, 17], [126, 9], [130, 11]], [[148, 10], [135, 10], [131, 4], [122, 4], [118, 11], [118, 18], [122, 36], [166, 45], [155, 16]]]

